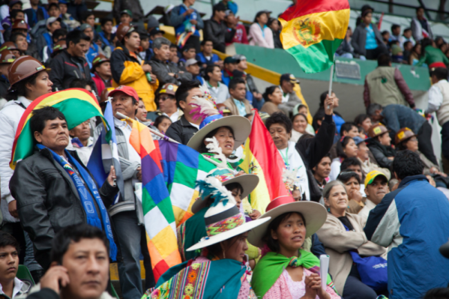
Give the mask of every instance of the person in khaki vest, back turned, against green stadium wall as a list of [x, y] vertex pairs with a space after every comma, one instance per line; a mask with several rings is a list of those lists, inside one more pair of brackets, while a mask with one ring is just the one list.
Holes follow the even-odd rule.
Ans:
[[414, 108], [412, 92], [408, 88], [401, 71], [392, 66], [390, 55], [379, 55], [377, 68], [366, 75], [363, 100], [366, 108], [374, 103], [382, 106], [389, 104], [410, 105], [410, 108]]

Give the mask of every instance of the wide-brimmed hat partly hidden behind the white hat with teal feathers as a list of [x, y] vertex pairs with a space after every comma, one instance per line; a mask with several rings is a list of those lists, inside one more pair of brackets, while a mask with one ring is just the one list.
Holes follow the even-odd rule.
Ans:
[[[228, 168], [215, 168], [209, 172], [208, 177], [215, 177], [217, 180], [221, 182], [223, 186], [238, 183], [242, 186], [242, 194], [241, 198], [245, 198], [251, 193], [254, 189], [256, 189], [257, 184], [259, 183], [259, 177], [257, 175], [239, 175], [238, 177], [234, 176]], [[195, 202], [193, 202], [191, 210], [192, 213], [198, 213], [204, 206], [208, 204], [208, 197], [198, 197]]]

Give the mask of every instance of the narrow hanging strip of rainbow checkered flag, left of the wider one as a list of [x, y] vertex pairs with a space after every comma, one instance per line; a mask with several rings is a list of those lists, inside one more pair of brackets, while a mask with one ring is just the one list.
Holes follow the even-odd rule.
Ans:
[[169, 190], [164, 181], [162, 156], [149, 128], [131, 119], [129, 142], [139, 153], [142, 165], [142, 208], [147, 244], [155, 280], [170, 267], [180, 264], [176, 224]]

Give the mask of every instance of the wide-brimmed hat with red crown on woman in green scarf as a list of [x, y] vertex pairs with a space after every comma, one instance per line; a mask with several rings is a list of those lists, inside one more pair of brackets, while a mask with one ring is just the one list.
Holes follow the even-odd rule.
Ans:
[[[292, 196], [280, 196], [272, 200], [267, 206], [267, 212], [260, 219], [276, 217], [285, 213], [298, 212], [304, 216], [305, 220], [305, 238], [313, 235], [323, 226], [327, 219], [327, 211], [322, 204], [318, 202], [300, 201], [296, 202]], [[263, 247], [265, 241], [262, 240], [271, 221], [265, 222], [253, 229], [248, 234], [248, 242], [256, 247]]]

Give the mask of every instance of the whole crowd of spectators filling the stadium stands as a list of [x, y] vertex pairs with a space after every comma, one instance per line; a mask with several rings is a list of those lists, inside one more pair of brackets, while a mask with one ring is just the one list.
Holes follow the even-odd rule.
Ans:
[[[379, 32], [370, 6], [354, 33], [347, 30], [336, 55], [378, 64], [365, 77], [366, 113], [352, 122], [335, 110], [344, 99], [332, 90], [311, 99], [320, 103], [312, 113], [294, 75], [258, 90], [244, 55], [222, 60], [213, 52], [232, 43], [282, 48], [280, 22], [267, 10], [248, 28], [234, 1], [216, 3], [203, 21], [195, 0], [183, 0], [162, 17], [175, 28], [173, 44], [155, 18], [144, 26], [139, 1], [115, 1], [117, 25], [96, 24], [82, 1], [31, 0], [26, 10], [20, 0], [7, 2], [0, 6], [0, 297], [109, 299], [113, 261], [124, 299], [448, 298], [449, 49], [432, 36], [423, 8], [403, 35], [397, 25]], [[416, 109], [392, 62], [428, 66], [426, 110]], [[102, 122], [71, 127], [54, 106], [32, 110], [25, 133], [34, 152], [10, 167], [26, 109], [68, 88], [86, 90], [115, 115], [120, 165], [108, 164], [101, 184], [88, 164]], [[442, 127], [441, 159], [432, 113]], [[182, 264], [157, 281], [144, 226], [149, 207], [137, 195], [142, 160], [123, 115], [214, 165], [196, 182], [193, 215], [175, 228]], [[280, 188], [289, 194], [260, 211], [251, 192], [267, 182], [240, 167], [256, 118], [285, 164]], [[324, 276], [322, 255], [329, 256]], [[23, 267], [28, 279], [19, 277]]]

